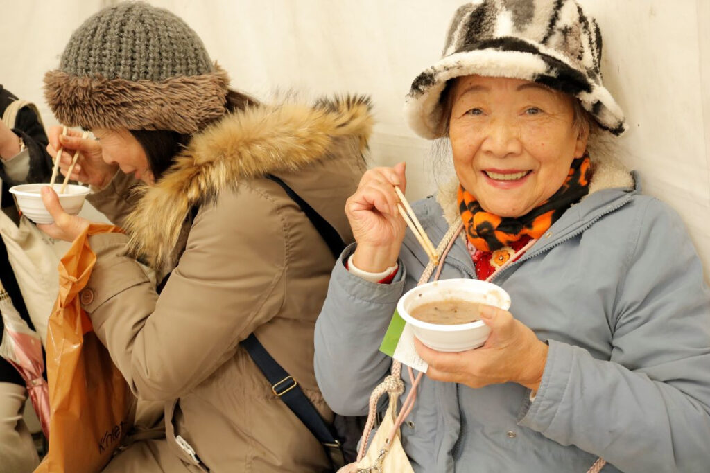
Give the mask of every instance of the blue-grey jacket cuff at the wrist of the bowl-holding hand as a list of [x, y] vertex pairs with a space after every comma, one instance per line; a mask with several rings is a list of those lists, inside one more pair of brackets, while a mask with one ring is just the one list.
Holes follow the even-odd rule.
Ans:
[[559, 409], [574, 365], [574, 350], [571, 345], [548, 340], [550, 350], [547, 352], [545, 371], [535, 396], [530, 391], [518, 416], [518, 425], [532, 428], [542, 434], [552, 425]]

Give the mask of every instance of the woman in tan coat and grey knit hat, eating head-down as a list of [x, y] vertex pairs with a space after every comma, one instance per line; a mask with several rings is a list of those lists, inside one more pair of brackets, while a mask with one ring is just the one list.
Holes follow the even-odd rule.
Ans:
[[[138, 399], [165, 403], [166, 439], [134, 443], [107, 471], [329, 467], [239, 343], [256, 335], [331, 420], [313, 374], [313, 331], [334, 257], [270, 176], [350, 242], [343, 208], [361, 176], [369, 106], [266, 106], [227, 82], [180, 18], [146, 4], [89, 18], [45, 77], [58, 120], [97, 138], [55, 128], [50, 153], [64, 147], [65, 170], [80, 150], [72, 179], [92, 184], [89, 200], [128, 233], [89, 238], [97, 264], [82, 306]], [[147, 186], [131, 193], [136, 179]], [[64, 213], [48, 187], [43, 199], [53, 237], [72, 240], [89, 224]], [[136, 258], [158, 281], [169, 275], [159, 295]]]

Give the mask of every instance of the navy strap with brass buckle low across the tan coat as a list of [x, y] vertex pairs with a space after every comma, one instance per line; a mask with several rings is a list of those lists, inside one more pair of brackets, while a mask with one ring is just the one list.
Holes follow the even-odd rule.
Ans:
[[271, 383], [273, 394], [280, 397], [308, 430], [315, 435], [315, 438], [322, 443], [334, 469], [342, 467], [344, 459], [340, 441], [335, 438], [327, 423], [303, 393], [298, 382], [269, 355], [253, 333], [245, 340], [241, 340], [239, 345], [249, 352], [251, 359]]

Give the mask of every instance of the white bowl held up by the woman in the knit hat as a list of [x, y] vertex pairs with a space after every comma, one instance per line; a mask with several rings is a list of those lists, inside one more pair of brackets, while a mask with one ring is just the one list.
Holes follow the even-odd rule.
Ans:
[[[34, 223], [54, 223], [54, 219], [42, 202], [42, 194], [40, 194], [41, 189], [48, 185], [21, 184], [10, 188], [10, 193], [15, 195], [20, 211]], [[54, 184], [53, 189], [59, 194], [62, 184]], [[71, 215], [79, 213], [89, 191], [88, 187], [67, 184], [64, 194], [59, 194], [59, 202], [64, 211]]]

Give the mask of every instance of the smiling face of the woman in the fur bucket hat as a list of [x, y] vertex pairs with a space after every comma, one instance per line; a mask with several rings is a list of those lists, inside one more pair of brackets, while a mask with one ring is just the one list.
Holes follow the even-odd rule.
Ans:
[[518, 217], [564, 184], [584, 155], [572, 98], [535, 82], [459, 77], [450, 91], [449, 138], [461, 185], [484, 210]]

